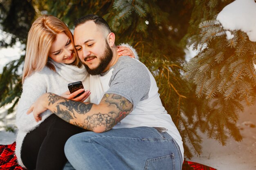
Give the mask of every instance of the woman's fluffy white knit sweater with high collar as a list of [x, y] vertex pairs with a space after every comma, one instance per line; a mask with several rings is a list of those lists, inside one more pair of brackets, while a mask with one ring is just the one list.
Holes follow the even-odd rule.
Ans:
[[[56, 72], [45, 67], [42, 71], [35, 72], [27, 77], [23, 84], [23, 91], [16, 112], [16, 126], [18, 127], [16, 156], [18, 163], [22, 167], [25, 167], [21, 160], [21, 147], [25, 136], [52, 114], [52, 112], [46, 110], [41, 115], [42, 121], [36, 122], [32, 113], [26, 114], [31, 104], [44, 93], [52, 92], [56, 95], [61, 95], [68, 90], [67, 84], [72, 82], [81, 81], [85, 90], [90, 89], [89, 75], [84, 66], [78, 68], [72, 65], [56, 63], [53, 60], [50, 62], [56, 67]], [[85, 101], [87, 102], [89, 99]]]

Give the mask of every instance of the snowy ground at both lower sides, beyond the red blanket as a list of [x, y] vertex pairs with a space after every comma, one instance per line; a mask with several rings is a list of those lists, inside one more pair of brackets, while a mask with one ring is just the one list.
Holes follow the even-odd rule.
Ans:
[[[0, 144], [11, 144], [15, 141], [16, 135], [13, 132], [6, 132], [3, 126], [14, 126], [15, 113], [7, 115], [6, 108], [0, 108]], [[218, 170], [256, 170], [256, 104], [247, 107], [244, 113], [240, 114], [238, 126], [240, 127], [243, 141], [238, 143], [229, 139], [227, 146], [220, 145], [214, 139], [203, 137], [203, 152], [200, 157], [194, 156], [191, 161], [211, 166]]]

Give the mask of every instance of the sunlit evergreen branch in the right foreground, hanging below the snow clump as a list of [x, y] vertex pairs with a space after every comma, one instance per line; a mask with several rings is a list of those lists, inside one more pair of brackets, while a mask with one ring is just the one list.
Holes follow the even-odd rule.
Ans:
[[205, 97], [207, 107], [210, 106], [205, 126], [208, 137], [218, 139], [222, 145], [228, 134], [241, 141], [236, 126], [238, 113], [244, 105], [255, 103], [256, 42], [251, 42], [242, 31], [231, 31], [234, 38], [227, 39], [227, 30], [216, 21], [216, 15], [201, 22], [198, 28], [200, 33], [191, 38], [191, 44], [201, 50], [184, 67], [184, 79], [196, 84], [195, 93]]

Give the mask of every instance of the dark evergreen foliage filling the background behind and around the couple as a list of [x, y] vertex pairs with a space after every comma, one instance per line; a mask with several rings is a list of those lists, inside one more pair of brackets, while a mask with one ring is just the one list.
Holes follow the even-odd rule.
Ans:
[[[133, 45], [139, 53], [141, 62], [146, 64], [153, 73], [157, 80], [162, 103], [182, 135], [185, 157], [191, 158], [194, 154], [199, 155], [201, 153], [200, 143], [202, 139], [198, 135], [198, 130], [208, 132], [209, 137], [215, 137], [222, 144], [225, 144], [227, 140], [225, 128], [229, 129], [231, 136], [235, 137], [236, 140], [241, 139], [239, 130], [235, 125], [237, 110], [243, 110], [243, 106], [240, 104], [242, 96], [239, 95], [241, 92], [238, 93], [238, 87], [243, 82], [245, 87], [243, 90], [246, 91], [246, 88], [251, 88], [249, 85], [252, 85], [250, 81], [253, 78], [249, 75], [246, 76], [247, 74], [243, 72], [242, 78], [238, 78], [235, 83], [236, 93], [231, 93], [231, 87], [233, 87], [231, 78], [233, 79], [233, 77], [229, 66], [233, 63], [232, 66], [235, 69], [234, 61], [238, 58], [233, 57], [231, 59], [225, 49], [233, 51], [235, 55], [238, 44], [241, 44], [242, 41], [239, 40], [236, 46], [231, 47], [227, 44], [224, 35], [211, 35], [213, 36], [211, 40], [207, 40], [206, 37], [208, 32], [211, 33], [211, 29], [218, 29], [219, 26], [207, 20], [214, 20], [221, 9], [232, 0], [23, 1], [22, 3], [18, 0], [3, 0], [0, 2], [2, 29], [11, 33], [12, 36], [12, 43], [8, 44], [4, 40], [1, 42], [2, 44], [5, 43], [4, 46], [11, 46], [16, 40], [25, 43], [29, 26], [42, 13], [60, 18], [71, 29], [73, 29], [73, 21], [83, 15], [94, 13], [103, 16], [116, 34], [116, 44], [128, 42]], [[237, 31], [237, 36], [241, 35], [244, 35], [244, 33]], [[247, 40], [248, 38], [246, 39], [245, 35], [243, 45], [248, 48], [245, 53], [250, 53], [249, 47], [252, 43], [247, 42]], [[207, 48], [186, 64], [184, 58], [186, 45], [193, 44], [197, 48], [205, 43], [208, 43]], [[221, 46], [220, 43], [226, 43], [225, 47]], [[211, 53], [209, 49], [214, 52]], [[202, 61], [197, 60], [205, 57], [202, 53], [209, 53], [208, 58]], [[211, 55], [214, 57], [210, 57]], [[230, 58], [229, 65], [224, 64], [228, 58]], [[243, 61], [237, 63], [237, 66], [246, 62], [244, 58], [240, 57], [240, 59]], [[20, 60], [10, 62], [4, 68], [0, 77], [0, 106], [14, 102], [14, 107], [18, 102], [22, 85], [21, 76], [18, 75], [17, 70], [22, 66], [23, 61], [24, 56]], [[215, 65], [212, 66], [210, 61]], [[185, 70], [183, 69], [184, 64], [186, 64]], [[227, 66], [225, 67], [226, 70], [224, 69], [225, 65]], [[193, 69], [191, 69], [192, 67]], [[222, 72], [220, 72], [222, 67]], [[230, 76], [230, 79], [227, 77], [227, 82], [222, 82], [222, 89], [220, 89], [220, 81], [224, 80], [213, 78], [218, 73], [219, 76], [221, 74]], [[184, 77], [182, 78], [183, 74]], [[195, 81], [195, 79], [198, 79], [198, 81]], [[202, 82], [202, 80], [205, 80], [205, 82]], [[204, 87], [204, 91], [199, 95], [198, 87], [200, 85]], [[252, 88], [254, 87], [252, 86]], [[213, 90], [211, 94], [210, 89], [217, 89], [217, 91]], [[228, 94], [233, 95], [227, 97]], [[247, 97], [248, 101], [252, 102], [254, 92], [250, 91], [248, 94], [251, 97]], [[209, 96], [207, 100], [197, 97], [203, 95]], [[226, 98], [223, 97], [224, 95], [226, 95]], [[240, 98], [237, 98], [238, 95]], [[13, 111], [13, 107], [10, 111]]]

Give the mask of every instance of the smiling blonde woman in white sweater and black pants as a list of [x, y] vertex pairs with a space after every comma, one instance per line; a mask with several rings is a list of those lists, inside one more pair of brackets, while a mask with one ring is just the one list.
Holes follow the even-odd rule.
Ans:
[[[133, 55], [128, 47], [118, 49], [123, 55]], [[135, 51], [133, 51], [136, 54]], [[81, 81], [86, 89], [72, 94], [67, 84]], [[58, 170], [67, 161], [65, 141], [83, 129], [59, 119], [49, 110], [36, 122], [27, 110], [44, 93], [55, 93], [68, 99], [88, 102], [89, 75], [74, 50], [73, 36], [68, 27], [54, 16], [40, 16], [31, 26], [27, 39], [22, 75], [23, 91], [16, 113], [18, 134], [16, 156], [27, 169]], [[79, 97], [77, 93], [85, 91]]]

